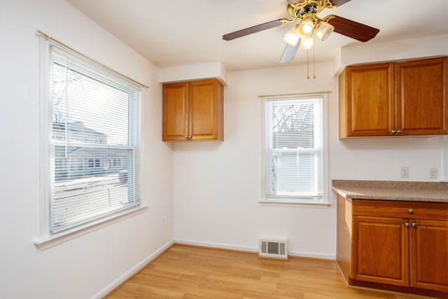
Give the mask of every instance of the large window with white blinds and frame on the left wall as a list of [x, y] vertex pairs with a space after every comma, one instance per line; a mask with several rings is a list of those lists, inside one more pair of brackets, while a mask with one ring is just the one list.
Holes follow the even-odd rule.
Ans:
[[50, 239], [141, 206], [141, 89], [56, 43], [41, 48], [41, 238]]

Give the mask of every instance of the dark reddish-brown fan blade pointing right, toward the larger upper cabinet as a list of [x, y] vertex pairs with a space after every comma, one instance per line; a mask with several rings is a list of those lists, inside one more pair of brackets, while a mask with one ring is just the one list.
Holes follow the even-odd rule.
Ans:
[[379, 32], [379, 29], [377, 28], [363, 25], [346, 18], [338, 17], [337, 15], [334, 17], [335, 18], [328, 20], [328, 23], [335, 27], [335, 32], [344, 36], [349, 36], [352, 39], [364, 42], [370, 41], [377, 36]]

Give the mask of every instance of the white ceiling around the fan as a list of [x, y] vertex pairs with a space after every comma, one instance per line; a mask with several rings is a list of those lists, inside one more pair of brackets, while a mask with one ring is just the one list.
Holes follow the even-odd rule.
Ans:
[[[66, 1], [160, 68], [214, 61], [223, 62], [228, 71], [279, 67], [283, 35], [295, 24], [224, 41], [223, 34], [290, 18], [286, 0]], [[378, 28], [367, 43], [379, 43], [448, 34], [447, 14], [448, 0], [351, 0], [324, 9], [320, 16], [338, 15]], [[332, 61], [339, 48], [356, 43], [332, 33], [316, 42], [316, 62]], [[306, 50], [298, 50], [288, 64], [306, 60]]]

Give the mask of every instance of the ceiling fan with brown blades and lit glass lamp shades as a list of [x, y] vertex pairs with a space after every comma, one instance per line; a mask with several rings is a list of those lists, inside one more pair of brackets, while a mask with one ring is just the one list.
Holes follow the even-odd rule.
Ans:
[[290, 29], [284, 39], [286, 48], [281, 55], [280, 62], [289, 62], [294, 59], [298, 48], [309, 49], [314, 47], [314, 33], [321, 41], [324, 41], [334, 31], [358, 41], [370, 41], [379, 32], [379, 29], [348, 20], [337, 15], [327, 15], [319, 18], [325, 8], [336, 8], [351, 0], [288, 0], [286, 11], [292, 19], [279, 19], [266, 22], [246, 29], [241, 29], [230, 34], [225, 34], [223, 39], [230, 41], [242, 36], [260, 32], [262, 30], [283, 26], [297, 21], [297, 25]]

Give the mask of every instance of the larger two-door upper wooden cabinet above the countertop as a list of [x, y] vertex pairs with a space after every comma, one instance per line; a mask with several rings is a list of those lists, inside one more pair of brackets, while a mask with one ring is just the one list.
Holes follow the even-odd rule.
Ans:
[[346, 67], [339, 138], [448, 134], [448, 57]]

